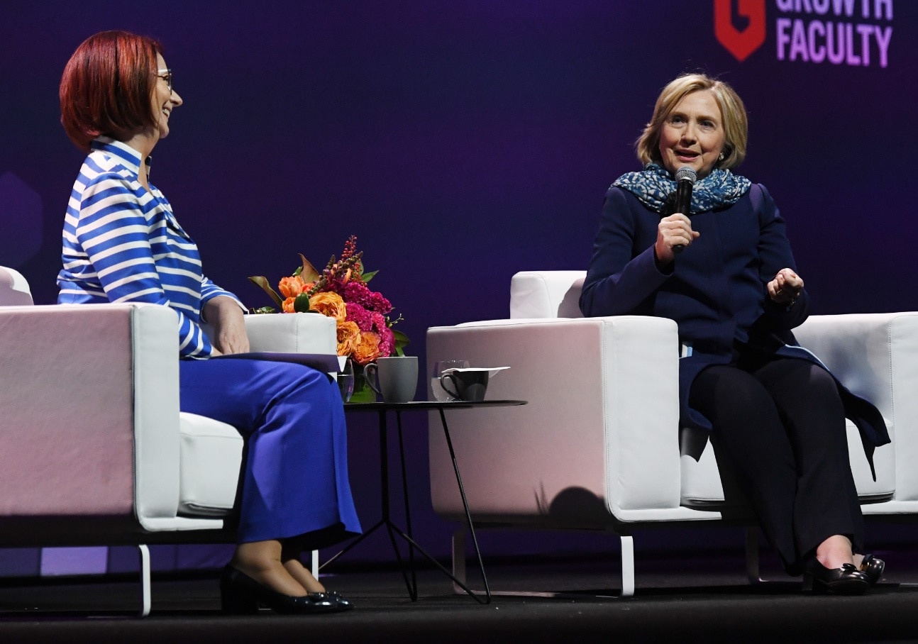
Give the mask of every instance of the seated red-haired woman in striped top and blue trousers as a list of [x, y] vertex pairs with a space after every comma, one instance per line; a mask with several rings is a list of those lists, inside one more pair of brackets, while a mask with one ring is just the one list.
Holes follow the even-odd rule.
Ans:
[[[158, 42], [124, 31], [86, 39], [67, 63], [61, 121], [88, 156], [67, 206], [58, 302], [170, 306], [182, 411], [246, 437], [239, 544], [220, 581], [224, 610], [346, 610], [353, 605], [299, 561], [302, 550], [360, 533], [341, 395], [304, 365], [207, 360], [246, 352], [249, 341], [244, 306], [207, 279], [195, 242], [149, 181], [151, 152], [182, 105], [172, 78]], [[204, 322], [214, 328], [209, 338]]]

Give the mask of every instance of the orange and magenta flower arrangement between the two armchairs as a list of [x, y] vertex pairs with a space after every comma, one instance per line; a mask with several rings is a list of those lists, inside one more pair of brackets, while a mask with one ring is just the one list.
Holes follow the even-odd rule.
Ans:
[[[302, 265], [278, 283], [280, 294], [264, 277], [250, 277], [249, 280], [271, 295], [284, 313], [312, 312], [334, 317], [338, 326], [338, 355], [347, 356], [358, 365], [377, 358], [405, 355], [402, 348], [409, 339], [393, 329], [401, 316], [392, 319], [392, 303], [366, 285], [376, 271], [364, 272], [364, 253], [357, 251], [355, 236], [344, 243], [341, 258], [332, 255], [322, 272], [302, 254], [299, 257]], [[274, 310], [264, 306], [253, 313], [274, 313]]]

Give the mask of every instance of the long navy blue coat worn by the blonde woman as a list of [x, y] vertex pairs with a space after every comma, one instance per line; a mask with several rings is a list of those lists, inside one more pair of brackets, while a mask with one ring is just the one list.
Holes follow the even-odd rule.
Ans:
[[[733, 360], [735, 341], [824, 368], [790, 332], [809, 315], [806, 290], [790, 307], [776, 305], [767, 294], [778, 271], [797, 267], [784, 219], [765, 186], [754, 184], [729, 207], [693, 214], [691, 225], [700, 237], [663, 271], [654, 259], [660, 217], [634, 194], [609, 189], [580, 309], [585, 316], [662, 316], [677, 322], [679, 341], [692, 347], [679, 361], [683, 427], [711, 429], [711, 422], [689, 407], [689, 388], [705, 367]], [[890, 442], [883, 418], [841, 383], [839, 392], [869, 459], [874, 446]]]

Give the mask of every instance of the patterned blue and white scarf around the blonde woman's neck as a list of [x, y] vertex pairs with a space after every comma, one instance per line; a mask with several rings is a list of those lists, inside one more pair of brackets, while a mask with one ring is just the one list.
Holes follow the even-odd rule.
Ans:
[[[656, 163], [648, 163], [641, 172], [622, 174], [612, 185], [633, 193], [641, 203], [658, 213], [664, 211], [666, 197], [676, 190], [672, 175]], [[691, 212], [703, 213], [733, 205], [751, 185], [751, 181], [739, 174], [715, 168], [704, 179], [695, 182], [691, 193]]]

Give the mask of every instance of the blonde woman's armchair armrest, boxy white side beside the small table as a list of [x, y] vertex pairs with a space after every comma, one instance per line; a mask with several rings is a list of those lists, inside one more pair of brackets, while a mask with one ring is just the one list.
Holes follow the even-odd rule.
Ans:
[[[457, 359], [511, 367], [487, 398], [529, 401], [450, 418], [473, 514], [551, 524], [561, 512], [568, 524], [600, 527], [610, 513], [629, 521], [678, 507], [675, 322], [610, 316], [429, 329], [428, 369]], [[437, 512], [460, 516], [439, 424], [431, 415], [431, 497]], [[575, 497], [589, 502], [565, 504]]]

